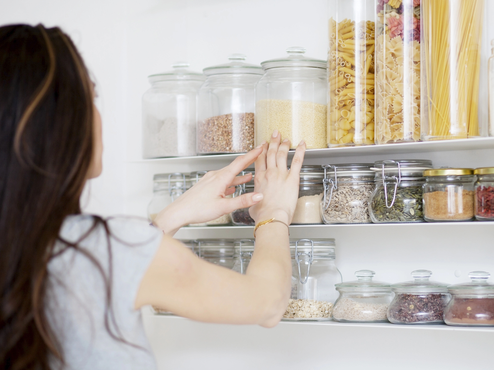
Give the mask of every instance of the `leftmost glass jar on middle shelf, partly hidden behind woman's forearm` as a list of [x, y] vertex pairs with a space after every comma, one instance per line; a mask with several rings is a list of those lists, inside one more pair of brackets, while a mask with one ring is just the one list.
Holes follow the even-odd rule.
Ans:
[[187, 190], [187, 175], [181, 172], [153, 176], [153, 198], [148, 205], [148, 218], [154, 221], [158, 213]]

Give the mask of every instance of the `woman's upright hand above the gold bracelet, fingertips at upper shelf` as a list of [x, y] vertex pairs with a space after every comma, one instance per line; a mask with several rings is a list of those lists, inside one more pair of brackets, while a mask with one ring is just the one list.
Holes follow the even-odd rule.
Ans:
[[275, 218], [289, 225], [295, 212], [306, 145], [300, 142], [288, 170], [290, 142], [288, 139], [283, 143], [280, 141], [281, 135], [275, 130], [270, 143], [263, 145], [262, 153], [255, 161], [254, 192], [264, 195], [249, 209], [255, 223]]

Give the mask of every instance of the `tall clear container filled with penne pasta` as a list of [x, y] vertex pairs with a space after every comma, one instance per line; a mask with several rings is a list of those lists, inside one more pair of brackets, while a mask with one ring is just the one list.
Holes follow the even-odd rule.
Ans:
[[374, 144], [373, 0], [329, 0], [328, 147]]

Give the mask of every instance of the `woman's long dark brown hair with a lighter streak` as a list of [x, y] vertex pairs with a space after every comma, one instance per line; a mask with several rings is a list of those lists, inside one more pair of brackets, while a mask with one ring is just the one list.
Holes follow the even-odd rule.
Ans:
[[91, 81], [59, 28], [0, 27], [0, 369], [61, 354], [44, 313], [47, 263], [93, 152]]

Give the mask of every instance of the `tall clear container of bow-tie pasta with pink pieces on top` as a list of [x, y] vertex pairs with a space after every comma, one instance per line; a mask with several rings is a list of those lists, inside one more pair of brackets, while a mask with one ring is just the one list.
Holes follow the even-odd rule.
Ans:
[[376, 0], [375, 143], [420, 140], [420, 0]]

